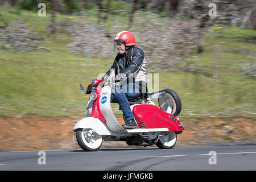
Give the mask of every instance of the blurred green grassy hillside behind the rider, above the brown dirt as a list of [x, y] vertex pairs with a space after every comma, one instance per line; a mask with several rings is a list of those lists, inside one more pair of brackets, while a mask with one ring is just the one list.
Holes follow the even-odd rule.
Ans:
[[[87, 85], [99, 73], [108, 71], [115, 52], [104, 59], [91, 55], [88, 60], [86, 54], [69, 51], [72, 36], [65, 28], [55, 36], [49, 34], [47, 17], [38, 18], [30, 11], [21, 11], [18, 15], [7, 11], [0, 17], [9, 23], [9, 29], [15, 22], [26, 22], [30, 34], [40, 36], [36, 42], [40, 48], [26, 52], [10, 51], [1, 43], [0, 114], [67, 116], [83, 111], [88, 96], [81, 95], [79, 84]], [[60, 24], [64, 24], [65, 19], [72, 23], [76, 16], [57, 16]], [[255, 77], [243, 74], [246, 69], [255, 70], [255, 37], [254, 30], [213, 27], [213, 32], [207, 32], [205, 37], [203, 53], [181, 58], [184, 68], [188, 67], [187, 63], [193, 63], [195, 69], [169, 71], [155, 65], [151, 67], [154, 62], [151, 61], [148, 73], [153, 77], [154, 73], [159, 74], [159, 89], [171, 88], [179, 94], [183, 103], [181, 117], [255, 118]], [[217, 77], [212, 76], [213, 65]], [[150, 89], [151, 85], [148, 86]], [[120, 113], [117, 105], [113, 107], [116, 114]]]

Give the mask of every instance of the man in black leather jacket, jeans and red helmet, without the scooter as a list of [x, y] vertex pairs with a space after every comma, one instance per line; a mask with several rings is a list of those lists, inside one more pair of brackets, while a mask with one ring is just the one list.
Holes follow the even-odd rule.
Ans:
[[124, 129], [138, 127], [128, 99], [137, 98], [146, 93], [147, 61], [141, 48], [135, 47], [135, 38], [131, 32], [119, 32], [114, 39], [118, 54], [108, 72], [102, 78], [114, 77], [115, 82], [124, 81], [112, 88], [111, 101], [118, 103], [125, 118]]

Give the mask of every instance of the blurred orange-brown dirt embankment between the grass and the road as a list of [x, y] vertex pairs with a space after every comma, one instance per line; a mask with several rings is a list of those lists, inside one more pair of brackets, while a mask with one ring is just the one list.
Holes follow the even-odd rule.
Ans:
[[[73, 127], [80, 117], [0, 117], [0, 151], [80, 149], [73, 143]], [[122, 125], [123, 118], [117, 116]], [[190, 119], [177, 135], [176, 146], [256, 144], [256, 121], [246, 118]], [[104, 142], [102, 148], [130, 147], [125, 142]], [[134, 147], [134, 146], [132, 146]]]

